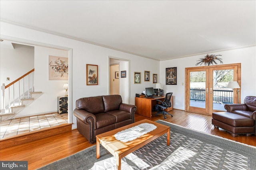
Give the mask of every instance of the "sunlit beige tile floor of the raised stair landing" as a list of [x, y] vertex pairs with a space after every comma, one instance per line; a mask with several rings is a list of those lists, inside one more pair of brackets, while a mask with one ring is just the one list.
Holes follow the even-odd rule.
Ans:
[[68, 113], [48, 113], [0, 121], [0, 139], [68, 123]]

